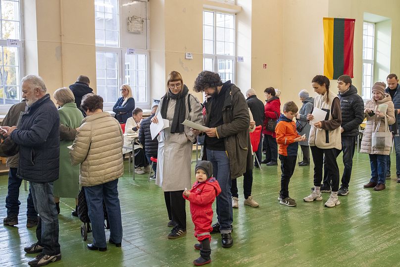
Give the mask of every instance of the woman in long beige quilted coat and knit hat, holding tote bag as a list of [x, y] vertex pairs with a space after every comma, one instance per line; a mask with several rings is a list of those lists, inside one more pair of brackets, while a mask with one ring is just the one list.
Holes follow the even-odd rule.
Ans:
[[[372, 99], [365, 104], [364, 114], [367, 118], [367, 124], [365, 126], [360, 149], [360, 153], [369, 154], [369, 161], [371, 164], [371, 179], [369, 183], [364, 185], [364, 188], [373, 187], [375, 191], [386, 188], [385, 155], [389, 155], [391, 147], [373, 148], [372, 133], [375, 131], [379, 122], [381, 123], [378, 132], [386, 131], [388, 125], [386, 125], [385, 117], [389, 125], [395, 123], [395, 106], [393, 105], [390, 95], [385, 93], [385, 88], [385, 83], [375, 83], [372, 87]], [[386, 114], [379, 111], [379, 106], [382, 104], [388, 105]]]

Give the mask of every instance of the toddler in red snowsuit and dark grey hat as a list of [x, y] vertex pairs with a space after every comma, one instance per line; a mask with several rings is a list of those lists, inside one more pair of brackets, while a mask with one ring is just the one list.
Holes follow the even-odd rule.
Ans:
[[215, 197], [221, 193], [217, 180], [212, 177], [212, 163], [201, 160], [196, 164], [196, 182], [192, 189], [183, 191], [183, 197], [190, 201], [190, 214], [195, 224], [195, 237], [200, 244], [195, 249], [200, 250], [200, 257], [193, 261], [196, 266], [211, 262], [210, 241], [212, 231], [212, 208]]

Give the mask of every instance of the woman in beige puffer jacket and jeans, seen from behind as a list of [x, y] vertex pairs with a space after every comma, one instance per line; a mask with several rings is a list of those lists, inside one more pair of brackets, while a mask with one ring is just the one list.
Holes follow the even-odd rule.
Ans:
[[118, 178], [124, 173], [124, 138], [119, 122], [102, 110], [103, 99], [100, 96], [85, 95], [81, 107], [88, 116], [82, 120], [70, 157], [73, 165], [81, 163], [79, 182], [85, 190], [93, 230], [93, 243], [87, 248], [106, 251], [103, 200], [110, 225], [109, 243], [120, 247], [122, 241], [117, 186]]

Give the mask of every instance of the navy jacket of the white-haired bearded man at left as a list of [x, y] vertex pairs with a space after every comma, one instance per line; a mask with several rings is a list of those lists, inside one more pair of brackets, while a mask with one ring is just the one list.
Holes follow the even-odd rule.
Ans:
[[58, 179], [60, 156], [60, 118], [47, 94], [28, 107], [21, 126], [10, 137], [19, 145], [17, 176], [30, 182], [46, 183]]

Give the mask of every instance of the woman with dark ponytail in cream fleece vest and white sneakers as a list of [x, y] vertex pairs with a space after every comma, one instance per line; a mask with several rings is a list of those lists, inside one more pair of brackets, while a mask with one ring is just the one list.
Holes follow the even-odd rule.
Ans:
[[[323, 75], [317, 75], [312, 79], [314, 92], [318, 94], [314, 101], [314, 108], [318, 107], [326, 111], [325, 120], [318, 121], [311, 125], [308, 144], [311, 149], [312, 160], [314, 161], [314, 191], [305, 202], [314, 200], [321, 201], [322, 194], [320, 186], [322, 181], [322, 166], [324, 156], [327, 169], [331, 179], [332, 193], [326, 207], [335, 207], [340, 204], [338, 199], [339, 190], [339, 167], [336, 162], [340, 151], [342, 150], [342, 137], [340, 133], [342, 123], [342, 112], [340, 109], [340, 100], [337, 95], [329, 91], [329, 79]], [[307, 120], [314, 119], [314, 116], [307, 114]]]

